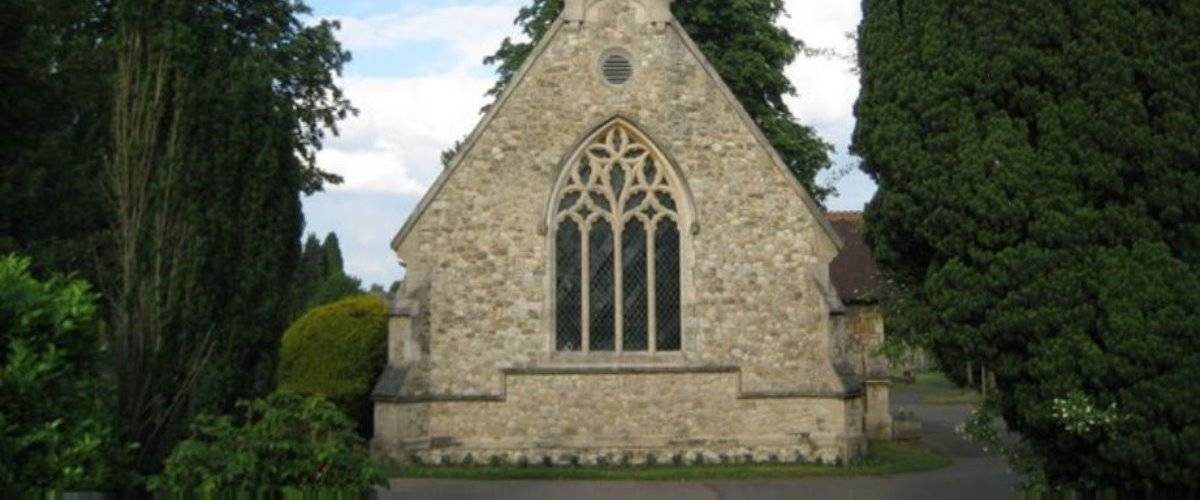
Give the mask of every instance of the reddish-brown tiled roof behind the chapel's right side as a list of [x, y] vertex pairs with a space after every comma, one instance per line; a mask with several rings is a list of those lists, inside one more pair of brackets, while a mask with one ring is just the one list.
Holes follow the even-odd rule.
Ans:
[[847, 305], [875, 302], [880, 267], [863, 239], [863, 212], [827, 212], [826, 218], [841, 236], [841, 253], [829, 264], [829, 278]]

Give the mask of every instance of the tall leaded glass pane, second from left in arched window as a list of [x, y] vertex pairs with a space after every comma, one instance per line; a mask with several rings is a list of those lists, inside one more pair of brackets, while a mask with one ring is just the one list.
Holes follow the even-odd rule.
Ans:
[[616, 289], [613, 283], [612, 225], [600, 218], [592, 223], [588, 231], [590, 303], [589, 342], [592, 350], [613, 350], [616, 348]]

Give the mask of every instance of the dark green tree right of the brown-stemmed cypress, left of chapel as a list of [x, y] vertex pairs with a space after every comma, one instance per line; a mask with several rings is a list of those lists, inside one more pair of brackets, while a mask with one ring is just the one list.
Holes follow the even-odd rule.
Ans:
[[[208, 380], [218, 408], [274, 386], [275, 353], [290, 321], [304, 229], [300, 194], [331, 176], [311, 149], [349, 112], [332, 78], [348, 60], [331, 26], [305, 28], [302, 5], [199, 2], [188, 54], [194, 218], [206, 236], [210, 321], [221, 325], [226, 373]], [[226, 28], [229, 26], [229, 28]], [[298, 64], [296, 61], [305, 61]], [[322, 92], [331, 92], [328, 101]], [[328, 248], [326, 248], [328, 249]]]

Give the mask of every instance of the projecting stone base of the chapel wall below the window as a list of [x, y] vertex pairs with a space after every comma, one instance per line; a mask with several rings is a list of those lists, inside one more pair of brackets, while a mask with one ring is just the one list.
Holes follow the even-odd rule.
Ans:
[[[563, 372], [563, 371], [558, 371]], [[510, 372], [504, 394], [376, 404], [374, 452], [476, 463], [826, 462], [862, 454], [858, 394], [743, 393], [737, 368]], [[472, 400], [455, 400], [455, 399]]]

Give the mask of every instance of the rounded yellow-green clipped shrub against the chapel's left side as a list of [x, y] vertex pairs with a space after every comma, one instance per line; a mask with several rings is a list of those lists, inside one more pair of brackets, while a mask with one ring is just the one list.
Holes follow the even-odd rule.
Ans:
[[371, 432], [371, 387], [388, 362], [388, 308], [374, 295], [317, 307], [300, 317], [280, 347], [278, 386], [324, 396]]

